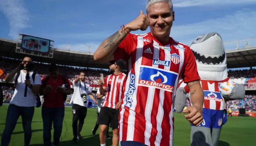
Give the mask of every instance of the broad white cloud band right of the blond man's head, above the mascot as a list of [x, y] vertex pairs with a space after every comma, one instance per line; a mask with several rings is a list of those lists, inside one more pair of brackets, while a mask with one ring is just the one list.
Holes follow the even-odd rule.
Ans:
[[199, 35], [217, 32], [223, 41], [245, 39], [256, 36], [256, 11], [237, 11], [217, 19], [172, 27], [171, 35], [177, 41], [189, 44]]

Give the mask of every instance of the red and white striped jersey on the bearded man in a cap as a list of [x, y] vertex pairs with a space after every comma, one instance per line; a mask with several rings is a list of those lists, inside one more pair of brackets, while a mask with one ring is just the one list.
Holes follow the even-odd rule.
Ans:
[[107, 94], [102, 107], [110, 107], [115, 109], [116, 104], [121, 100], [123, 87], [125, 85], [126, 74], [108, 75], [105, 77], [103, 86], [107, 87]]

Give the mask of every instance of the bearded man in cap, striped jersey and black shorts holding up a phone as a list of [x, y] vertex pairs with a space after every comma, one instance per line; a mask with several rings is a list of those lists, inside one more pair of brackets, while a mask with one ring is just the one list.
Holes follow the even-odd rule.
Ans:
[[121, 105], [121, 96], [124, 90], [126, 74], [122, 73], [120, 67], [123, 65], [122, 60], [116, 61], [114, 64], [109, 66], [109, 70], [113, 74], [108, 75], [104, 79], [104, 84], [102, 85], [102, 80], [99, 80], [100, 93], [105, 96], [105, 100], [102, 104], [98, 123], [100, 126], [100, 142], [101, 146], [106, 145], [106, 132], [108, 130], [108, 125], [113, 131], [112, 145], [117, 146], [119, 141], [118, 136], [118, 116], [119, 107]]

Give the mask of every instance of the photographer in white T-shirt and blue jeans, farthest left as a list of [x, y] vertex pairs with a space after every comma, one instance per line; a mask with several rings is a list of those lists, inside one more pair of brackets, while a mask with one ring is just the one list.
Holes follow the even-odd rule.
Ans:
[[24, 130], [24, 146], [30, 144], [32, 136], [31, 122], [34, 115], [34, 108], [37, 105], [36, 95], [39, 94], [41, 87], [41, 78], [33, 69], [34, 64], [32, 59], [30, 57], [24, 57], [19, 66], [5, 78], [6, 83], [15, 81], [15, 90], [7, 110], [1, 146], [9, 145], [12, 131], [20, 116]]

